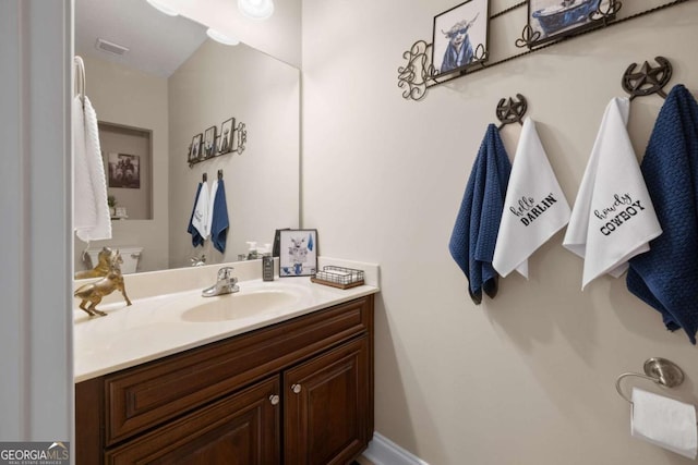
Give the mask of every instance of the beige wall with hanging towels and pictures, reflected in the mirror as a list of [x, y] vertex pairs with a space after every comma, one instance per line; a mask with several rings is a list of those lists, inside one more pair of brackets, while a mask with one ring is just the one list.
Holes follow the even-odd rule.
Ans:
[[[207, 70], [207, 72], [202, 72]], [[299, 222], [299, 71], [250, 47], [207, 40], [169, 79], [170, 267], [206, 255], [207, 264], [232, 261], [248, 250], [245, 241], [274, 241], [278, 228]], [[234, 118], [248, 142], [241, 155], [227, 154], [189, 168], [192, 137]], [[192, 247], [186, 227], [196, 186], [208, 186], [224, 171], [230, 228], [225, 254]]]

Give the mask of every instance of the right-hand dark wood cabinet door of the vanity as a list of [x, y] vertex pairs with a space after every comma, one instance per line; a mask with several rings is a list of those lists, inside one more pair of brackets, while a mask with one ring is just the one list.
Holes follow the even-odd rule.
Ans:
[[364, 335], [285, 371], [285, 464], [346, 464], [365, 449], [369, 356]]

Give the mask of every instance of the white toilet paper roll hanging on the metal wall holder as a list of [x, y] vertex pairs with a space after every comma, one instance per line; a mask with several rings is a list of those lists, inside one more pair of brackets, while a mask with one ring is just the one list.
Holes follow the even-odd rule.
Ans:
[[695, 460], [698, 453], [696, 407], [633, 388], [630, 435]]

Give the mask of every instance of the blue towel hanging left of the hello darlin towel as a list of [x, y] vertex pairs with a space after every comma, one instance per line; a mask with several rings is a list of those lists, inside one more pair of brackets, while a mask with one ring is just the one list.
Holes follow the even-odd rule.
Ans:
[[498, 274], [492, 267], [492, 258], [510, 172], [512, 162], [500, 132], [490, 124], [448, 244], [450, 255], [468, 278], [468, 291], [476, 304], [482, 302], [482, 291], [490, 297], [497, 293]]

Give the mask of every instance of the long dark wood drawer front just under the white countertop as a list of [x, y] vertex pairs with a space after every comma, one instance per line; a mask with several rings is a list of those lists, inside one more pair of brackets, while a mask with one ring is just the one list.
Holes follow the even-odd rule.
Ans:
[[371, 296], [105, 377], [105, 444], [116, 444], [366, 332]]

